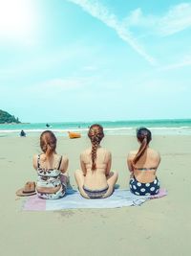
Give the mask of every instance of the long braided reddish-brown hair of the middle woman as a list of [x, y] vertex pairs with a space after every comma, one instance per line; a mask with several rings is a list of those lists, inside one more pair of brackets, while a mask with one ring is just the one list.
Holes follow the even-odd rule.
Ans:
[[96, 150], [104, 137], [103, 128], [100, 125], [93, 125], [88, 131], [88, 137], [92, 142], [92, 170], [96, 170]]

